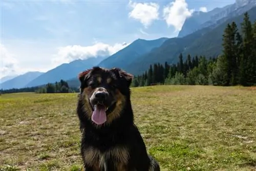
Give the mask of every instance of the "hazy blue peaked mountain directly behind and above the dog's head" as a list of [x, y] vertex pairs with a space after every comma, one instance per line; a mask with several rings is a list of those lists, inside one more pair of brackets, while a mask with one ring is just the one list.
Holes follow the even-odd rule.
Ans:
[[129, 46], [123, 48], [110, 57], [102, 60], [98, 66], [103, 68], [123, 68], [137, 59], [137, 57], [160, 47], [168, 38], [162, 37], [155, 40], [137, 39]]

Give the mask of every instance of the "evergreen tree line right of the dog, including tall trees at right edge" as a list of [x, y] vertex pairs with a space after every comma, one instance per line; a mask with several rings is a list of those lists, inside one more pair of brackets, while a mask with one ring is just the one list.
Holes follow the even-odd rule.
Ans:
[[240, 31], [235, 22], [227, 25], [222, 47], [223, 53], [217, 58], [191, 58], [188, 55], [184, 60], [180, 54], [177, 64], [155, 63], [134, 78], [132, 87], [152, 84], [256, 85], [256, 22], [251, 24], [247, 12]]

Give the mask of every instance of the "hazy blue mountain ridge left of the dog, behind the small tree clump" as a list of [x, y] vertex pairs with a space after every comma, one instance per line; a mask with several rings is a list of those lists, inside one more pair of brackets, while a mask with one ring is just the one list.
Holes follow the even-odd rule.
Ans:
[[82, 70], [91, 68], [98, 65], [98, 63], [105, 59], [104, 57], [91, 57], [88, 59], [78, 59], [70, 63], [63, 63], [62, 65], [49, 70], [48, 72], [40, 75], [39, 77], [31, 80], [26, 84], [26, 87], [34, 87], [46, 84], [48, 82], [59, 81], [60, 79], [68, 80], [77, 76]]

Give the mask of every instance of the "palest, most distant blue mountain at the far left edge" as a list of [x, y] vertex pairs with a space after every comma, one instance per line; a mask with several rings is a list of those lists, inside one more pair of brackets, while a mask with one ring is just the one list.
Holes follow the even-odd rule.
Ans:
[[5, 81], [1, 84], [1, 88], [3, 90], [7, 89], [20, 89], [26, 87], [26, 84], [31, 80], [35, 79], [36, 77], [44, 74], [42, 72], [27, 72], [23, 75], [16, 76], [8, 81]]

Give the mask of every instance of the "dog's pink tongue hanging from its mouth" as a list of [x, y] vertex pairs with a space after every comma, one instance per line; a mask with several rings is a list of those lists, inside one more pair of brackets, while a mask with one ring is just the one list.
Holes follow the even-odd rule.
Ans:
[[106, 121], [106, 108], [103, 105], [96, 105], [93, 115], [92, 121], [96, 124], [103, 124]]

